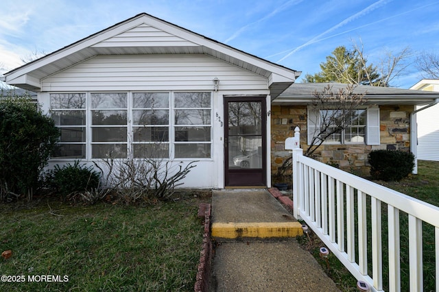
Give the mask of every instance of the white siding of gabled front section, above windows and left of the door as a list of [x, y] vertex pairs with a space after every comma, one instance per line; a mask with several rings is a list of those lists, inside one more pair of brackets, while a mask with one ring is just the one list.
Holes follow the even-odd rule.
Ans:
[[[206, 55], [97, 56], [42, 80], [43, 92], [38, 93], [38, 100], [43, 104], [43, 110], [47, 111], [49, 93], [136, 90], [213, 91], [212, 80], [215, 77], [219, 79], [219, 90], [213, 92], [212, 158], [197, 162], [197, 167], [187, 175], [182, 187], [222, 188], [224, 187], [225, 126], [223, 96], [265, 95], [270, 102], [266, 77]], [[190, 159], [181, 159], [181, 161], [187, 164]], [[49, 166], [62, 162], [62, 160], [51, 161]], [[91, 161], [88, 161], [88, 164], [91, 164]]]

